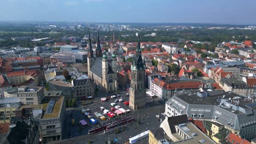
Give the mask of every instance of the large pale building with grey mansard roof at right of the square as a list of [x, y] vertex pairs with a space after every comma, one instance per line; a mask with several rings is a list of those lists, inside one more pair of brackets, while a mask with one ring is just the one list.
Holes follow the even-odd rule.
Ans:
[[246, 140], [256, 137], [255, 112], [255, 103], [232, 92], [215, 95], [179, 92], [166, 102], [165, 107], [167, 117], [188, 115], [193, 119], [220, 123]]

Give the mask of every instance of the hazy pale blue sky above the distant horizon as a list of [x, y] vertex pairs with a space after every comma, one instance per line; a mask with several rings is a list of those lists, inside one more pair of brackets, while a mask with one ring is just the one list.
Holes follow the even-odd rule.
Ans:
[[255, 0], [0, 1], [0, 21], [256, 25]]

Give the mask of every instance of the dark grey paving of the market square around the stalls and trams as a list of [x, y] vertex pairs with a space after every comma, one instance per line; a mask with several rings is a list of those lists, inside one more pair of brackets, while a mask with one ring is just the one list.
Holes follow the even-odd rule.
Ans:
[[[100, 107], [104, 107], [105, 109], [110, 111], [110, 108], [113, 107], [110, 105], [110, 103], [114, 103], [115, 98], [107, 101], [101, 101], [101, 98], [102, 98], [101, 95], [104, 95], [103, 97], [106, 96], [106, 94], [102, 92], [98, 92], [97, 97], [93, 100], [94, 103], [86, 106], [80, 105], [80, 103], [78, 103], [77, 107], [70, 109], [66, 112], [66, 120], [65, 120], [66, 127], [65, 127], [65, 130], [63, 130], [64, 131], [63, 139], [68, 139], [68, 140], [63, 140], [63, 141], [67, 143], [69, 142], [80, 143], [82, 141], [84, 143], [87, 143], [87, 140], [90, 139], [93, 143], [105, 143], [109, 137], [110, 140], [117, 138], [119, 140], [118, 143], [124, 143], [125, 141], [128, 141], [129, 137], [135, 136], [148, 129], [158, 128], [160, 125], [160, 121], [164, 120], [164, 116], [162, 116], [161, 113], [164, 112], [165, 105], [163, 103], [160, 103], [160, 101], [157, 98], [152, 99], [150, 97], [146, 97], [146, 107], [141, 110], [132, 111], [129, 106], [124, 104], [124, 101], [129, 101], [129, 96], [126, 96], [126, 93], [121, 93], [120, 95], [121, 95], [121, 98], [123, 99], [123, 102], [117, 102], [116, 104], [125, 110], [131, 110], [131, 112], [120, 115], [120, 116], [116, 115], [113, 118], [109, 118], [109, 116], [106, 116], [107, 118], [106, 121], [102, 121], [102, 119], [97, 118], [94, 113], [98, 112], [102, 114], [103, 111], [100, 110]], [[112, 94], [109, 94], [109, 95], [112, 95]], [[91, 115], [97, 119], [98, 124], [91, 124], [90, 119], [80, 111], [81, 109], [90, 109]], [[160, 118], [156, 117], [155, 115], [160, 115]], [[112, 130], [112, 131], [105, 131], [106, 132], [105, 134], [104, 134], [104, 131], [101, 131], [96, 134], [88, 135], [89, 129], [92, 129], [104, 123], [116, 121], [116, 119], [118, 118], [127, 117], [127, 116], [132, 116], [136, 120], [139, 118], [140, 124], [138, 124], [137, 121], [127, 124], [125, 125], [125, 130], [118, 134], [115, 134], [114, 131]], [[72, 125], [72, 118], [75, 119], [74, 125]], [[83, 129], [79, 128], [78, 126], [79, 121], [82, 119], [84, 119], [88, 123], [88, 126]], [[147, 142], [147, 139], [142, 141]]]

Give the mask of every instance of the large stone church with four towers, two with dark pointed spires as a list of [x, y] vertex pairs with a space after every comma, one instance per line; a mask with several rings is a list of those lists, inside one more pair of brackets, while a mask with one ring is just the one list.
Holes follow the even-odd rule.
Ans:
[[88, 49], [88, 76], [95, 83], [96, 88], [105, 92], [118, 91], [118, 78], [117, 78], [117, 56], [114, 52], [108, 56], [106, 51], [103, 52], [100, 46], [100, 35], [98, 32], [96, 55], [91, 46], [91, 37], [89, 31], [89, 49]]

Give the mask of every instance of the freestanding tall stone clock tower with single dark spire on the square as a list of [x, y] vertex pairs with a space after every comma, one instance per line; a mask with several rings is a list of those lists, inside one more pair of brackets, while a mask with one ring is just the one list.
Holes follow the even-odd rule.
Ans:
[[129, 105], [133, 110], [142, 109], [146, 105], [145, 65], [141, 56], [141, 42], [138, 35], [136, 59], [131, 65], [131, 87]]

